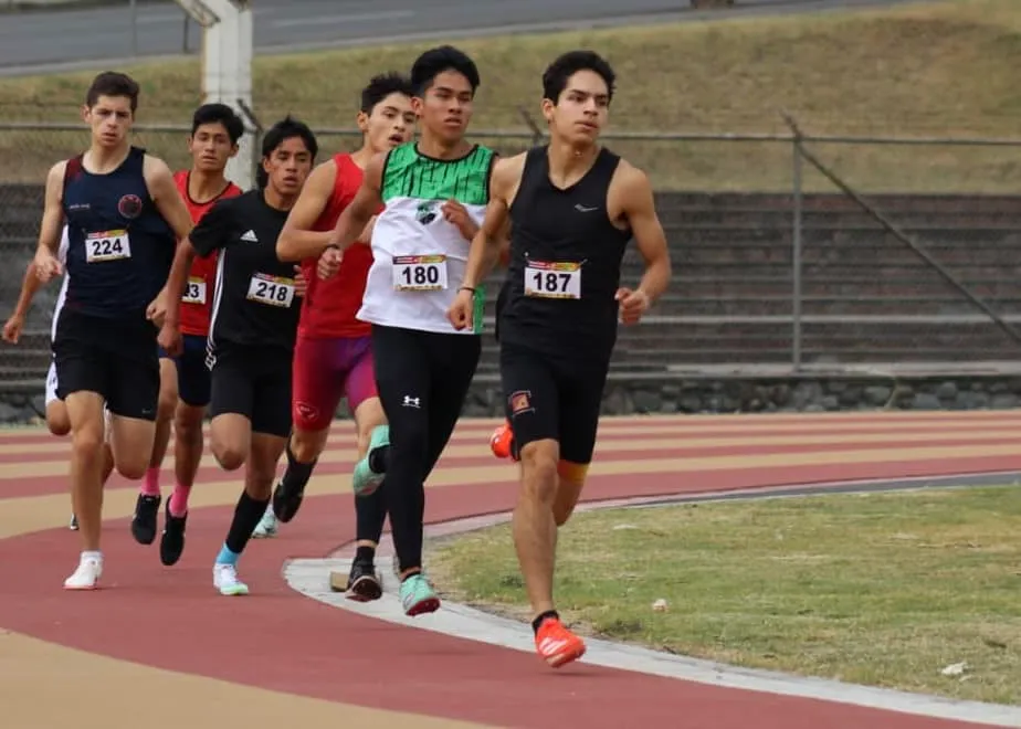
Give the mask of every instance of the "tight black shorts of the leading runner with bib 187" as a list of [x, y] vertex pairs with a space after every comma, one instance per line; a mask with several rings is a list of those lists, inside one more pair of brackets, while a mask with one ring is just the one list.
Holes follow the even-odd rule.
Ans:
[[561, 461], [590, 463], [608, 372], [609, 363], [601, 360], [501, 345], [499, 377], [515, 447], [554, 440]]

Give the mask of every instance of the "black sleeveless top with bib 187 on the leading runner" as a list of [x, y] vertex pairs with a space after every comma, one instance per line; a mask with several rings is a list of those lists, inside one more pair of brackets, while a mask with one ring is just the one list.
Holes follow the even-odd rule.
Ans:
[[496, 303], [502, 342], [609, 361], [617, 342], [614, 295], [631, 240], [607, 210], [619, 162], [600, 149], [585, 177], [561, 190], [549, 180], [547, 147], [527, 152], [510, 205], [510, 263]]

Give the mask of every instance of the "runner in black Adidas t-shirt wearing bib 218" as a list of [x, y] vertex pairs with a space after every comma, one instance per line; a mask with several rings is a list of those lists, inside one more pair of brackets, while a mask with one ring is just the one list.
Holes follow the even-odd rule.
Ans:
[[159, 344], [181, 347], [180, 298], [191, 260], [219, 251], [209, 328], [212, 370], [210, 445], [220, 466], [248, 465], [227, 541], [213, 566], [224, 595], [248, 594], [235, 564], [270, 503], [276, 463], [291, 433], [291, 360], [301, 313], [297, 266], [276, 257], [276, 239], [312, 171], [318, 146], [290, 117], [263, 138], [259, 187], [221, 200], [178, 249], [167, 284], [167, 319]]

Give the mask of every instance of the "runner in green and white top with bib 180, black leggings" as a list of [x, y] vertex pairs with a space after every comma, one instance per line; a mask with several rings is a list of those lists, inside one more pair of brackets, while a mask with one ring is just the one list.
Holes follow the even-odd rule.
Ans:
[[[412, 66], [411, 82], [421, 138], [368, 163], [319, 273], [336, 273], [341, 252], [348, 255], [386, 204], [372, 230], [375, 261], [358, 318], [372, 325], [376, 385], [390, 425], [389, 439], [386, 429], [373, 431], [366, 458], [372, 473], [386, 471], [401, 603], [408, 615], [418, 615], [440, 606], [422, 573], [424, 482], [454, 430], [481, 351], [480, 331], [455, 331], [446, 310], [462, 285], [466, 242], [488, 201], [496, 156], [464, 138], [478, 87], [469, 56], [451, 46], [427, 51]], [[388, 443], [387, 463], [373, 464]]]

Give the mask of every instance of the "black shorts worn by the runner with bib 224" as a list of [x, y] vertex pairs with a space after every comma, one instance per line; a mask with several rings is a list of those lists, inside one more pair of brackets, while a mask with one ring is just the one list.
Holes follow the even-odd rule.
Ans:
[[156, 327], [141, 319], [118, 321], [64, 306], [53, 339], [56, 397], [96, 392], [109, 412], [156, 420], [159, 358]]

